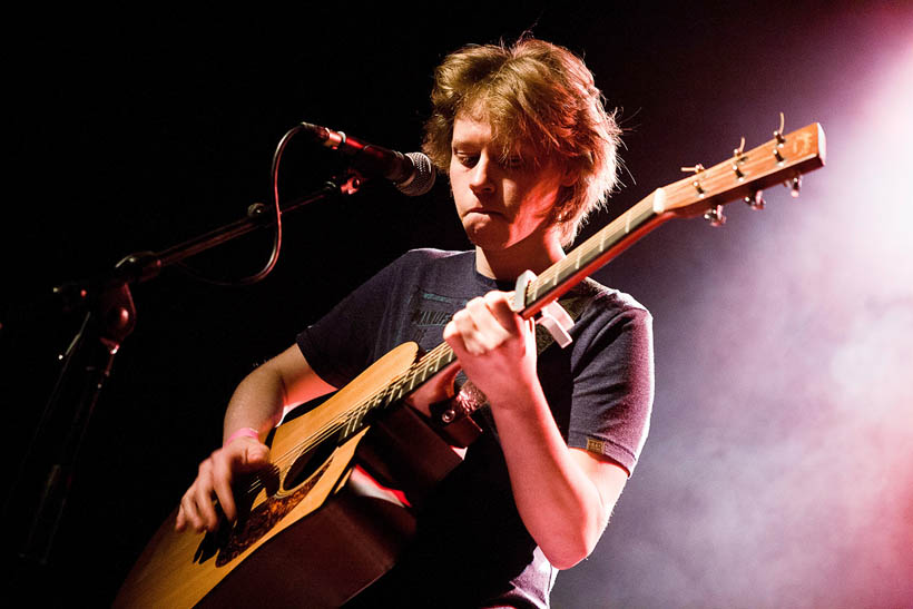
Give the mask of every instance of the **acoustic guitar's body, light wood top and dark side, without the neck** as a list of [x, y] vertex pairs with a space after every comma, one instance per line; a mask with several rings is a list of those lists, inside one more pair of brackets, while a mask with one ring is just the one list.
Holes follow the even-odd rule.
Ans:
[[[282, 590], [294, 598], [279, 606], [333, 607], [389, 570], [396, 539], [413, 527], [411, 514], [385, 501], [341, 491], [367, 428], [338, 445], [331, 436], [298, 459], [288, 455], [301, 453], [303, 441], [315, 431], [331, 428], [409, 370], [416, 353], [414, 343], [400, 345], [317, 409], [281, 425], [271, 446], [277, 466], [263, 483], [274, 488], [261, 490], [235, 527], [207, 534], [176, 532], [175, 510], [134, 566], [115, 607], [181, 608], [202, 601], [224, 607], [242, 598], [268, 599], [272, 607]], [[312, 462], [305, 462], [307, 452], [314, 453]], [[283, 479], [302, 466], [308, 473], [285, 488]], [[351, 556], [340, 553], [346, 547]], [[235, 570], [242, 577], [226, 580]], [[343, 581], [333, 582], [334, 578]]]

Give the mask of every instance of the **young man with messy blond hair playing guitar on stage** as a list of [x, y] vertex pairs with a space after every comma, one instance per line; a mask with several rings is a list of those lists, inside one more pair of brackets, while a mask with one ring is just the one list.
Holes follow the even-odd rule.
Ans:
[[402, 342], [429, 351], [443, 338], [488, 399], [484, 433], [435, 489], [402, 561], [357, 603], [547, 607], [554, 569], [592, 551], [646, 439], [650, 317], [588, 282], [572, 293], [573, 343], [538, 354], [505, 291], [561, 259], [605, 200], [619, 129], [583, 62], [533, 39], [452, 53], [432, 102], [424, 149], [450, 176], [474, 251], [405, 254], [247, 376], [177, 528], [214, 529], [214, 498], [235, 517], [230, 481], [266, 462], [261, 441], [284, 406], [343, 386]]

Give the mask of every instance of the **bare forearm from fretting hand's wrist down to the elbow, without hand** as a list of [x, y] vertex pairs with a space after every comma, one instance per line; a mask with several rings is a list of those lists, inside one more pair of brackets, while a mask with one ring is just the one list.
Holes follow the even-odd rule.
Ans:
[[549, 561], [570, 568], [592, 551], [617, 495], [602, 497], [580, 466], [538, 383], [511, 400], [492, 412], [517, 509]]

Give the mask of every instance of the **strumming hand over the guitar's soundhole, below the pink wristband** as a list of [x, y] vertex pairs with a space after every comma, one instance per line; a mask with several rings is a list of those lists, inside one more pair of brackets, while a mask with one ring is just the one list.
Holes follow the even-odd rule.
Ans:
[[258, 440], [240, 436], [216, 450], [203, 463], [196, 480], [184, 493], [177, 512], [175, 530], [188, 525], [196, 532], [215, 531], [218, 527], [214, 498], [218, 498], [225, 518], [237, 518], [232, 482], [235, 477], [265, 468], [269, 463], [269, 448]]

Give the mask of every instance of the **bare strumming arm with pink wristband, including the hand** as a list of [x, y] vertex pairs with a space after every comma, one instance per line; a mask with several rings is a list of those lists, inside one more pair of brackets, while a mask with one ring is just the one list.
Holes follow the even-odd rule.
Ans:
[[[263, 440], [278, 423], [283, 409], [334, 390], [317, 376], [297, 345], [248, 374], [228, 403], [223, 428], [224, 444], [199, 464], [196, 480], [180, 500], [175, 528], [179, 531], [190, 528], [197, 532], [215, 530], [218, 514], [214, 498], [218, 498], [225, 517], [234, 520], [237, 510], [232, 482], [237, 474], [266, 465], [269, 449]], [[245, 429], [251, 431], [237, 433]]]

